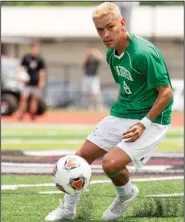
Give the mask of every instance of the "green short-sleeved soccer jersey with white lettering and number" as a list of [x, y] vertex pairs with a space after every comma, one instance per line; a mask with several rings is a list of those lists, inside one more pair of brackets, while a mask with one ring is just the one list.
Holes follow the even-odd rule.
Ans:
[[[106, 59], [121, 89], [119, 100], [112, 105], [112, 116], [142, 119], [157, 99], [156, 88], [171, 85], [161, 52], [144, 38], [132, 34], [120, 56], [115, 49], [108, 49]], [[170, 124], [172, 104], [173, 98], [153, 122]]]

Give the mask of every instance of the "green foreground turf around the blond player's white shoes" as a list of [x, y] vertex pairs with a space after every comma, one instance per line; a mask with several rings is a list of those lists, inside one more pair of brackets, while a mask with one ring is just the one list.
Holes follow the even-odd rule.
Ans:
[[[93, 177], [92, 180], [105, 177]], [[2, 185], [51, 183], [50, 176], [2, 176]], [[126, 214], [119, 220], [125, 222], [182, 222], [183, 197], [145, 197], [150, 194], [183, 192], [183, 180], [135, 182], [140, 194]], [[30, 187], [17, 190], [2, 190], [3, 222], [43, 222], [45, 216], [57, 207], [61, 194], [39, 194], [41, 191], [56, 191], [55, 187]], [[82, 193], [77, 208], [78, 222], [101, 221], [107, 206], [115, 197], [112, 184], [89, 185]]]

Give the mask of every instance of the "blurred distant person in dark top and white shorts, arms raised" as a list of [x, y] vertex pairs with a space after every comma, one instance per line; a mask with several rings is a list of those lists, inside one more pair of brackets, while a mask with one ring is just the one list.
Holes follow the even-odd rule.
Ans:
[[102, 98], [98, 68], [103, 61], [103, 54], [96, 48], [88, 48], [84, 60], [82, 90], [89, 110], [101, 110]]

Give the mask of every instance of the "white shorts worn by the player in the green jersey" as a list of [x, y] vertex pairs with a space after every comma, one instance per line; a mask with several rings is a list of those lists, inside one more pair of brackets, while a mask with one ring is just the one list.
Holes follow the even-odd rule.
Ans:
[[135, 142], [124, 142], [122, 139], [123, 132], [138, 121], [137, 119], [107, 116], [98, 123], [95, 129], [88, 135], [87, 140], [106, 151], [119, 147], [130, 156], [132, 163], [140, 171], [165, 137], [169, 125], [152, 123]]

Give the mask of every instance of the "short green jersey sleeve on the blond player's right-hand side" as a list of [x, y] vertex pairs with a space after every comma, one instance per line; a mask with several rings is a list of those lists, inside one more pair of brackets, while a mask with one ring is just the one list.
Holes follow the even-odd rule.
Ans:
[[136, 68], [145, 73], [148, 89], [169, 85], [168, 70], [161, 55], [143, 53], [137, 56]]

